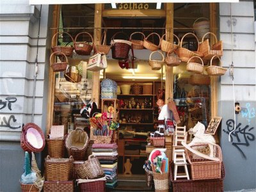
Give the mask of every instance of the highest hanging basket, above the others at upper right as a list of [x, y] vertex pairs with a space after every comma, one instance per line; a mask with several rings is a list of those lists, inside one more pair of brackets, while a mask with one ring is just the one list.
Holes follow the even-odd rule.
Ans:
[[210, 21], [205, 17], [199, 17], [193, 23], [193, 29], [199, 40], [202, 39], [205, 33], [210, 31]]

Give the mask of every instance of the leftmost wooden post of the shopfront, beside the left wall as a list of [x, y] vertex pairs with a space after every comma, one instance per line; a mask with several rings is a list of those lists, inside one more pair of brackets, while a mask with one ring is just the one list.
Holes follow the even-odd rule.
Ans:
[[[56, 28], [51, 30], [51, 38], [52, 36], [58, 32], [60, 22], [60, 5], [55, 4], [52, 12], [52, 28]], [[56, 38], [57, 44], [57, 38]], [[54, 57], [52, 57], [52, 63], [54, 61]], [[47, 103], [47, 124], [46, 124], [46, 135], [50, 134], [50, 129], [53, 122], [53, 106], [54, 106], [54, 92], [55, 92], [55, 72], [53, 72], [52, 68], [49, 67], [49, 83], [48, 83], [48, 103]]]

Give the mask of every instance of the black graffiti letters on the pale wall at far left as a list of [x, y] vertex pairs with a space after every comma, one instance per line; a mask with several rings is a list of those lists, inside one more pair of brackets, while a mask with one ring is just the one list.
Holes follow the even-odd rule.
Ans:
[[[0, 110], [8, 107], [10, 111], [12, 111], [12, 103], [16, 102], [17, 98], [16, 97], [6, 97], [5, 100], [3, 101], [0, 99]], [[10, 115], [8, 120], [8, 117], [6, 116], [0, 116], [0, 127], [8, 127], [10, 129], [19, 129], [21, 125], [17, 125], [17, 119], [15, 118], [14, 115]], [[17, 125], [17, 126], [15, 126]]]

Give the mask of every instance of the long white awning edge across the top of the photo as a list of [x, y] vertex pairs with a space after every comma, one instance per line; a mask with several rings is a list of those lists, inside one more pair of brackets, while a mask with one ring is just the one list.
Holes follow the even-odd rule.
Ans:
[[29, 4], [96, 4], [96, 3], [238, 3], [239, 0], [29, 0]]

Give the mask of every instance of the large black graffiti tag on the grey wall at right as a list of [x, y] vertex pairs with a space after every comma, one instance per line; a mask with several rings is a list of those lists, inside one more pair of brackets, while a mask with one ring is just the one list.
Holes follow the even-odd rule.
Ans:
[[[227, 130], [223, 129], [223, 132], [226, 132], [229, 134], [233, 129], [234, 129], [234, 120], [229, 119], [226, 122], [227, 125]], [[232, 132], [230, 135], [232, 145], [236, 147], [241, 155], [246, 159], [246, 156], [241, 149], [242, 146], [249, 147], [250, 146], [250, 141], [255, 140], [255, 136], [250, 133], [254, 129], [254, 127], [249, 127], [249, 125], [246, 125], [244, 128], [241, 128], [241, 123], [239, 123], [236, 126], [236, 131]]]

